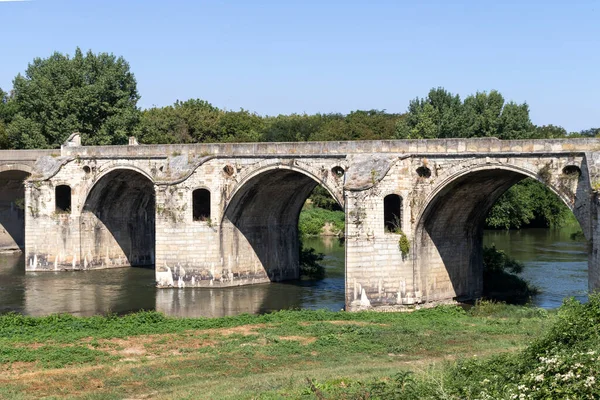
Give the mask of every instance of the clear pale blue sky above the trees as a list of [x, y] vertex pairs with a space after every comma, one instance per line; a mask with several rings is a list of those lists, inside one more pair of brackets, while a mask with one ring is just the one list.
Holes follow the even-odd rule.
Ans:
[[77, 46], [131, 65], [140, 106], [386, 109], [499, 90], [536, 124], [600, 126], [600, 0], [0, 0], [0, 87]]

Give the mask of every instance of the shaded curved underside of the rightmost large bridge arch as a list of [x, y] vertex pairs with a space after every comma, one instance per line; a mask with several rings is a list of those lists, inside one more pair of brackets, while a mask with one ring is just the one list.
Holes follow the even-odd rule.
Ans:
[[[472, 300], [483, 291], [483, 227], [500, 196], [525, 178], [534, 178], [557, 195], [582, 224], [566, 196], [530, 171], [494, 165], [447, 178], [428, 198], [417, 219], [413, 250], [415, 290], [423, 301]], [[581, 190], [579, 176], [577, 192]]]

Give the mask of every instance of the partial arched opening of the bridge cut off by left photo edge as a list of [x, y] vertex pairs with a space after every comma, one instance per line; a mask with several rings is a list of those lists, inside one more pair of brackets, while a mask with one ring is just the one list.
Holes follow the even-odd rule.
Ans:
[[0, 252], [25, 246], [25, 180], [20, 170], [0, 172]]

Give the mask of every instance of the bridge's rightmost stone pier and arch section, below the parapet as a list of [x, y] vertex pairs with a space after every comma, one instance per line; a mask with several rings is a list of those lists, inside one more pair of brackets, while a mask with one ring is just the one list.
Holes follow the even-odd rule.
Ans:
[[[381, 180], [347, 191], [346, 303], [351, 309], [386, 308], [479, 297], [485, 216], [505, 190], [526, 177], [555, 192], [596, 243], [594, 191], [583, 154], [399, 157]], [[401, 254], [400, 236], [385, 230], [383, 205], [390, 193], [403, 199], [407, 256]], [[590, 288], [597, 288], [595, 251], [589, 265]]]

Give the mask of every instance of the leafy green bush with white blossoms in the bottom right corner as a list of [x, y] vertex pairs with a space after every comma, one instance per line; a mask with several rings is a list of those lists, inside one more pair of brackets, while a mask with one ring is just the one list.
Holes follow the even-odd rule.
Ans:
[[466, 360], [452, 368], [456, 397], [597, 399], [600, 397], [600, 296], [568, 299], [547, 335], [518, 354]]

